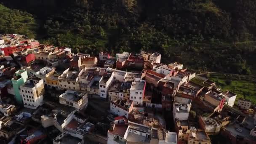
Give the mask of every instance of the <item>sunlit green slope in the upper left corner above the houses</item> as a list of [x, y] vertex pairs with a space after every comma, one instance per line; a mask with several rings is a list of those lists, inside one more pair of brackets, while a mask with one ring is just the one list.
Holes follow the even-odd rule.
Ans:
[[38, 24], [32, 14], [20, 10], [12, 10], [0, 4], [1, 33], [18, 33], [35, 38], [37, 29]]

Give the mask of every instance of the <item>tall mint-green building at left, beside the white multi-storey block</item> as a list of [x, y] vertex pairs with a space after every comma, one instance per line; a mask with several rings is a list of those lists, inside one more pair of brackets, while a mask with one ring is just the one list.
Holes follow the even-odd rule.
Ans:
[[22, 96], [20, 94], [20, 86], [27, 81], [27, 71], [26, 70], [18, 70], [15, 72], [13, 78], [11, 79], [11, 82], [13, 84], [13, 90], [15, 93], [15, 99], [18, 104], [22, 103]]

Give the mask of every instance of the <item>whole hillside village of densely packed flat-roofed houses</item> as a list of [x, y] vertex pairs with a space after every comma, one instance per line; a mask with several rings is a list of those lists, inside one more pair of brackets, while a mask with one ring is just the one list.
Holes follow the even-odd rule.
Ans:
[[251, 101], [160, 53], [91, 56], [16, 34], [0, 50], [1, 144], [256, 144]]

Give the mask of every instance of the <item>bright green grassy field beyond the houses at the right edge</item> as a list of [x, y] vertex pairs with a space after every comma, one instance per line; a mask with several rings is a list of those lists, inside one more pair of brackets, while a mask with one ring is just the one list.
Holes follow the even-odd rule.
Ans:
[[[227, 74], [211, 74], [210, 80], [216, 82], [222, 90], [232, 91], [237, 94], [238, 98], [245, 98], [256, 104], [256, 83], [255, 76], [227, 75]], [[231, 84], [227, 84], [227, 80], [231, 80]]]

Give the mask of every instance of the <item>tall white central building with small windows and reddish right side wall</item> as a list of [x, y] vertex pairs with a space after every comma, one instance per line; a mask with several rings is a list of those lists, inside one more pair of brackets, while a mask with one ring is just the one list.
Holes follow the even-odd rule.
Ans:
[[134, 101], [134, 105], [143, 103], [146, 82], [144, 80], [133, 82], [130, 89], [130, 100]]

